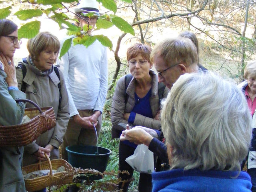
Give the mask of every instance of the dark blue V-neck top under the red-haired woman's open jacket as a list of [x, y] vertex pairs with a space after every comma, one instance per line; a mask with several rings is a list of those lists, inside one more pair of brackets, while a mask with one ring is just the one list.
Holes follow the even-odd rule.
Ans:
[[[150, 97], [151, 97], [151, 88], [143, 98], [139, 98], [138, 95], [134, 92], [135, 105], [132, 109], [132, 112], [130, 113], [130, 116], [128, 119], [129, 123], [132, 123], [132, 124], [134, 123], [136, 113], [141, 114], [146, 117], [149, 117], [149, 118], [153, 118], [150, 101], [149, 101]], [[137, 147], [136, 144], [131, 143], [128, 140], [123, 141], [123, 143], [125, 143], [133, 148]]]

